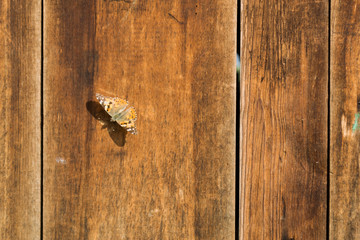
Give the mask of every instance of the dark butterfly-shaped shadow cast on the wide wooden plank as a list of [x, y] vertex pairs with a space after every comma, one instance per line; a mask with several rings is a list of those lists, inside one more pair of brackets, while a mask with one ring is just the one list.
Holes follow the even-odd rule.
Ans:
[[104, 110], [100, 103], [88, 101], [86, 108], [96, 120], [103, 124], [101, 129], [107, 129], [114, 143], [119, 147], [123, 147], [126, 143], [126, 134], [128, 133], [126, 129], [121, 127], [117, 122], [110, 121], [110, 115]]

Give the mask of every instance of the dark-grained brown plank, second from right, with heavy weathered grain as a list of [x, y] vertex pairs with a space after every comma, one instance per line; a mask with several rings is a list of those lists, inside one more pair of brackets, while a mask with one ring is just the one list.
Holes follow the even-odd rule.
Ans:
[[241, 9], [240, 239], [325, 239], [328, 1]]

